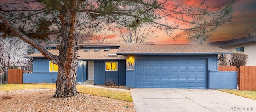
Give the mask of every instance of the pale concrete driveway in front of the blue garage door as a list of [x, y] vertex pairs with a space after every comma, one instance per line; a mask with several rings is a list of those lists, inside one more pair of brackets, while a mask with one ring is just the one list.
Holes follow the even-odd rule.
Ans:
[[218, 90], [163, 88], [130, 91], [136, 112], [256, 112], [256, 100]]

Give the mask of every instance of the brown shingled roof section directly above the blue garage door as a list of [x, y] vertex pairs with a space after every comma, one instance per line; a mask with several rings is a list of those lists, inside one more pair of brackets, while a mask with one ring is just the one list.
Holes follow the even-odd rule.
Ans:
[[232, 54], [222, 48], [207, 44], [173, 44], [173, 45], [121, 45], [117, 54], [122, 55], [202, 55]]

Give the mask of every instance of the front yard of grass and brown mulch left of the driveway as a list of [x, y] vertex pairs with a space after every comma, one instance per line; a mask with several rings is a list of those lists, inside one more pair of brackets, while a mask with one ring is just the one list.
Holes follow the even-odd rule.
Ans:
[[78, 85], [78, 95], [52, 98], [55, 88], [55, 84], [0, 85], [0, 111], [135, 112], [130, 92]]

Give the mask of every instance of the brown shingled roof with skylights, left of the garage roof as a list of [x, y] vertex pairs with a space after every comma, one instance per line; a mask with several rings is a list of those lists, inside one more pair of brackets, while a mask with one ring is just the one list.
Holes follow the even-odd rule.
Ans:
[[[110, 49], [109, 51], [104, 51], [104, 49], [100, 49], [100, 51], [94, 51], [94, 49], [91, 49], [90, 51], [84, 51], [84, 49], [78, 50], [78, 59], [125, 59], [126, 57], [124, 55], [115, 55], [116, 51], [118, 49]], [[50, 53], [53, 55], [58, 55], [59, 50], [57, 49], [48, 49]], [[110, 56], [108, 56], [110, 55]], [[34, 53], [31, 55], [27, 55], [24, 57], [44, 57], [41, 53]]]

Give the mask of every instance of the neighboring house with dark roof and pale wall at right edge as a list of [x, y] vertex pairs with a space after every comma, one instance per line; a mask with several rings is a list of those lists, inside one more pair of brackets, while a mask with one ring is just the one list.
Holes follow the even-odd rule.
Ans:
[[228, 41], [216, 41], [209, 43], [210, 45], [227, 49], [232, 52], [243, 52], [248, 54], [248, 61], [246, 65], [256, 66], [256, 37], [243, 37], [239, 39], [232, 39]]

